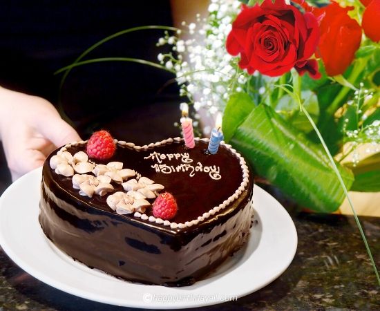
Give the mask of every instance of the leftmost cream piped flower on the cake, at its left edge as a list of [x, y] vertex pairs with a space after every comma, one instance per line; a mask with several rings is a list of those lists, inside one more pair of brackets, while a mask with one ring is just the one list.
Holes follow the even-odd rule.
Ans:
[[73, 176], [74, 173], [89, 173], [94, 169], [94, 164], [88, 162], [88, 156], [83, 151], [74, 156], [68, 151], [58, 151], [50, 158], [50, 167], [55, 173], [63, 176]]

